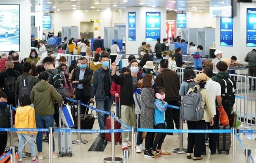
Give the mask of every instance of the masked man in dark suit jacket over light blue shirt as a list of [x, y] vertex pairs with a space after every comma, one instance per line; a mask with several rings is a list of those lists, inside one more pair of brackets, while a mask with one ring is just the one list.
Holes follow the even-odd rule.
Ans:
[[[87, 67], [87, 59], [81, 58], [80, 67], [74, 69], [71, 81], [76, 84], [76, 99], [81, 100], [82, 103], [87, 104], [91, 97], [91, 79], [93, 70]], [[85, 107], [81, 106], [81, 114], [85, 113]]]

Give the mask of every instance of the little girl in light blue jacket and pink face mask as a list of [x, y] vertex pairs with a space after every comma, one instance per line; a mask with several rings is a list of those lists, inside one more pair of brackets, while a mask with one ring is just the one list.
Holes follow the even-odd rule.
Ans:
[[[165, 90], [163, 87], [156, 87], [156, 100], [154, 102], [156, 109], [154, 110], [154, 126], [156, 129], [166, 129], [166, 123], [164, 119], [164, 111], [167, 108], [167, 102], [164, 101], [165, 99]], [[171, 153], [169, 152], [163, 152], [161, 150], [161, 146], [164, 142], [164, 138], [166, 136], [166, 133], [156, 133], [156, 138], [154, 140], [152, 153], [155, 157], [159, 157], [157, 152], [159, 152], [161, 155], [169, 155]], [[157, 148], [156, 148], [157, 147]]]

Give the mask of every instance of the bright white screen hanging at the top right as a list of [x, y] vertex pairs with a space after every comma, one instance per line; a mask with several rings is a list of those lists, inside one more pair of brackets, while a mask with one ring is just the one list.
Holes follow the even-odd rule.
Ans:
[[211, 0], [210, 13], [212, 17], [232, 17], [232, 0]]

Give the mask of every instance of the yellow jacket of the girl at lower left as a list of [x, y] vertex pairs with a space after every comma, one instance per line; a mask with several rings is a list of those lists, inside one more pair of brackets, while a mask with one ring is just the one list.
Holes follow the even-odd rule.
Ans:
[[[31, 106], [20, 106], [16, 109], [15, 129], [36, 129], [35, 109]], [[28, 131], [17, 131], [28, 134]], [[34, 134], [37, 131], [33, 132]]]

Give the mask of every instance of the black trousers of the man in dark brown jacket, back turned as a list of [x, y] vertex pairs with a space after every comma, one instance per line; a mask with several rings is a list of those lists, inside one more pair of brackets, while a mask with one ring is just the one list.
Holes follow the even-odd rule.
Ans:
[[[167, 103], [173, 106], [180, 106], [179, 100], [168, 101]], [[165, 110], [165, 121], [167, 124], [166, 129], [174, 129], [173, 121], [175, 128], [180, 129], [180, 110], [167, 107]]]

